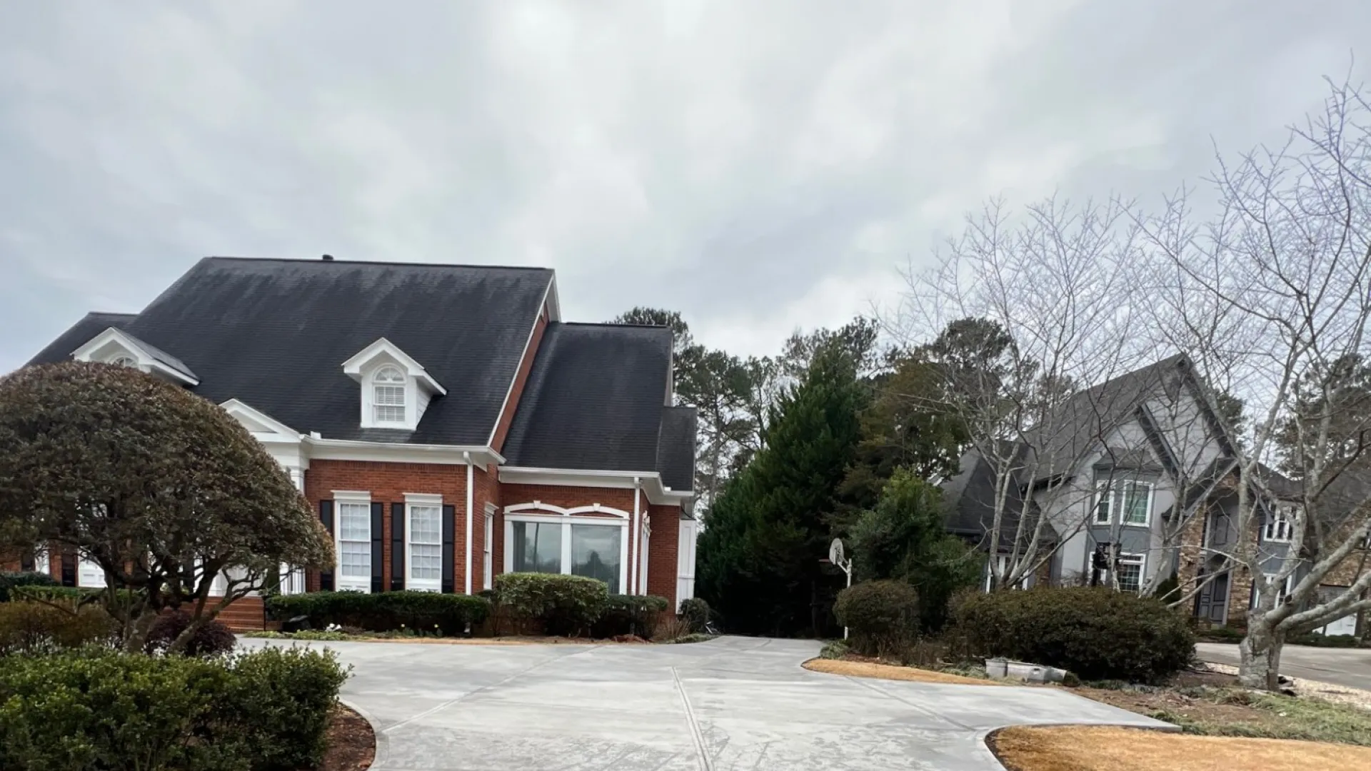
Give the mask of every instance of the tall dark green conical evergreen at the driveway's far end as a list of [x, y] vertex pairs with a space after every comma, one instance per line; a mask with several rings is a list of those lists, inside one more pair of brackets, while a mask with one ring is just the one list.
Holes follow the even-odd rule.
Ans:
[[821, 631], [839, 587], [820, 562], [827, 520], [864, 406], [853, 358], [828, 346], [769, 410], [762, 449], [724, 487], [699, 536], [696, 589], [729, 630]]

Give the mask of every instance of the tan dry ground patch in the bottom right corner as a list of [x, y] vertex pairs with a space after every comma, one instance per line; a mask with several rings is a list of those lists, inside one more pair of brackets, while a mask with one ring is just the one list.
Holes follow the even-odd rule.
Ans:
[[987, 739], [1009, 771], [1363, 771], [1371, 748], [1109, 726], [1016, 726]]

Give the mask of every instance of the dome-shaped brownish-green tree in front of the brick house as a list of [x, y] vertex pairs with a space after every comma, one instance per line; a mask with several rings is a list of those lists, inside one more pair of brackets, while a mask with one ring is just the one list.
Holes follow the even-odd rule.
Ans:
[[[0, 379], [0, 546], [97, 564], [96, 594], [141, 650], [184, 608], [180, 650], [229, 602], [318, 568], [333, 546], [285, 471], [228, 413], [132, 368], [63, 362]], [[222, 595], [210, 597], [215, 576]], [[219, 594], [219, 593], [217, 593]]]

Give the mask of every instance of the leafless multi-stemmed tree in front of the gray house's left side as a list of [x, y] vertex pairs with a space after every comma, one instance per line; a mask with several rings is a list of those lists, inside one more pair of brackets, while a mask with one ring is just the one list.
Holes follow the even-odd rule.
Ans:
[[1134, 333], [1146, 311], [1134, 291], [1138, 246], [1120, 202], [1049, 199], [1017, 220], [991, 202], [932, 269], [906, 272], [909, 291], [883, 318], [942, 373], [939, 388], [906, 396], [962, 421], [962, 473], [988, 466], [991, 587], [1021, 584], [1097, 516], [1094, 480], [1075, 471], [1120, 450], [1115, 435], [1139, 392], [1111, 383], [1157, 358]]

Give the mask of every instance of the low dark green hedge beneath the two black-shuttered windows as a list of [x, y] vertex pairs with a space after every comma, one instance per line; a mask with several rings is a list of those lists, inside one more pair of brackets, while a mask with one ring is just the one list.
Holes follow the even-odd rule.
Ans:
[[491, 601], [484, 597], [432, 591], [310, 591], [269, 597], [266, 608], [277, 620], [306, 616], [317, 628], [329, 624], [373, 632], [407, 628], [444, 637], [477, 627], [491, 615]]

